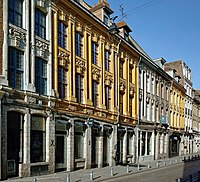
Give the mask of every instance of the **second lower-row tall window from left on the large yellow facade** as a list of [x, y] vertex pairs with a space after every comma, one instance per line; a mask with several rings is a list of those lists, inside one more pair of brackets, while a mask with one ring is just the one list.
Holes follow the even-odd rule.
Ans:
[[78, 103], [83, 103], [83, 77], [76, 73], [76, 99]]

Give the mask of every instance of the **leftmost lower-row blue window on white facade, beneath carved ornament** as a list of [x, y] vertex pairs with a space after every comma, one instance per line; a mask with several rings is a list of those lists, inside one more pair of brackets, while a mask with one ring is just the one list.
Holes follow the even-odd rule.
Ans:
[[9, 86], [16, 89], [23, 88], [23, 61], [22, 51], [9, 47], [8, 49], [8, 81]]

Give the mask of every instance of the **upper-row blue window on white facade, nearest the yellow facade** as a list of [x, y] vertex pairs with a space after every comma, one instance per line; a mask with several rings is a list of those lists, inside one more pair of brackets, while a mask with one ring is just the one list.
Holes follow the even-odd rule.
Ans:
[[35, 34], [46, 38], [46, 14], [39, 9], [35, 9]]

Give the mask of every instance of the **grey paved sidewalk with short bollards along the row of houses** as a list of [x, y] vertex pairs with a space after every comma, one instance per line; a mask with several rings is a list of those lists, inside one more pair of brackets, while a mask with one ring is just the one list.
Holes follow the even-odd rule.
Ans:
[[5, 181], [11, 182], [88, 182], [92, 181], [105, 181], [106, 179], [115, 178], [119, 176], [127, 175], [128, 173], [134, 174], [138, 172], [143, 172], [146, 170], [152, 170], [158, 167], [164, 167], [168, 165], [174, 165], [177, 163], [182, 163], [186, 160], [198, 160], [199, 155], [191, 154], [184, 156], [177, 156], [173, 158], [160, 159], [154, 161], [144, 161], [140, 162], [139, 168], [137, 164], [118, 165], [118, 166], [107, 166], [103, 168], [93, 168], [93, 169], [81, 169], [72, 172], [59, 172], [43, 176], [34, 176], [27, 178], [10, 178]]

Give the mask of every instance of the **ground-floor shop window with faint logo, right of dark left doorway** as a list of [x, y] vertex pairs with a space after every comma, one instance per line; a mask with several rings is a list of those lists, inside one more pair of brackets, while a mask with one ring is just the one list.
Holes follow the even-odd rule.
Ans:
[[44, 162], [46, 154], [45, 118], [33, 115], [31, 118], [31, 162]]

